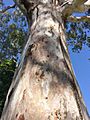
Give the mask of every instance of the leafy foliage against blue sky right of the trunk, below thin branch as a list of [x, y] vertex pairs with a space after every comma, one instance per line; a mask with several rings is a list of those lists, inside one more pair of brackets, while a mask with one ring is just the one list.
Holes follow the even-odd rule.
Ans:
[[84, 46], [90, 47], [90, 23], [67, 22], [67, 44], [73, 52], [80, 52]]

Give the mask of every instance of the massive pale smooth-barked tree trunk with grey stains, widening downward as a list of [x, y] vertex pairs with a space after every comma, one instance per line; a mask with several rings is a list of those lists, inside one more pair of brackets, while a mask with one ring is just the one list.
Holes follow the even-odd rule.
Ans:
[[89, 120], [56, 7], [38, 4], [32, 11], [30, 36], [1, 120]]

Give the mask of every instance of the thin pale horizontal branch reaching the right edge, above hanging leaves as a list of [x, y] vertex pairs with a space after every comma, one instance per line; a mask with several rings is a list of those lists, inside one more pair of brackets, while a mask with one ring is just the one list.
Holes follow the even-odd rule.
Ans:
[[69, 16], [67, 18], [67, 21], [70, 21], [70, 22], [89, 22], [90, 23], [90, 16], [80, 16], [80, 17], [77, 17], [77, 16]]

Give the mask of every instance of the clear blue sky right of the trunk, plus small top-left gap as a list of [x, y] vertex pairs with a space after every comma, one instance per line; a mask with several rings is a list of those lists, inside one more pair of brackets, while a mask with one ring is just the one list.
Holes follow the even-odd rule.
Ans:
[[[4, 0], [6, 4], [13, 4], [12, 0]], [[70, 58], [75, 72], [76, 79], [79, 83], [85, 105], [90, 114], [90, 49], [86, 47], [80, 53], [73, 53], [69, 49]]]

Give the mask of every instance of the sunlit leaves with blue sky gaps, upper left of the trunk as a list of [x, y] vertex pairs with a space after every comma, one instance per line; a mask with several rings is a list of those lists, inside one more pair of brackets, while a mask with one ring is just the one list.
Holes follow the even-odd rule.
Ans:
[[18, 57], [26, 42], [26, 18], [15, 9], [0, 15], [0, 59]]

